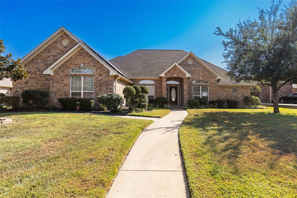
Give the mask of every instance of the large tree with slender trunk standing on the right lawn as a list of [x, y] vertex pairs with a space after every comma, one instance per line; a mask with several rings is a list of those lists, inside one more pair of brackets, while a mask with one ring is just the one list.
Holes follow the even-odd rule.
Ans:
[[269, 10], [259, 9], [258, 20], [239, 21], [226, 33], [217, 27], [228, 75], [236, 82], [260, 82], [272, 88], [274, 113], [279, 113], [278, 91], [286, 83], [297, 83], [296, 0], [280, 9], [272, 1]]

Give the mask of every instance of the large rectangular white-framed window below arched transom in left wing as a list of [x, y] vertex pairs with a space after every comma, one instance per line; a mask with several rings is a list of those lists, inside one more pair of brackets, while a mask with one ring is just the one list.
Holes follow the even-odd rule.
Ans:
[[71, 76], [70, 97], [94, 98], [94, 76]]

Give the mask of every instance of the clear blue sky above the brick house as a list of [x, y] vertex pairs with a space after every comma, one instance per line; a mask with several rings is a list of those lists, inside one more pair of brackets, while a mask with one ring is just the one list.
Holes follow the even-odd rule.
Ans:
[[[284, 1], [285, 4], [288, 1]], [[270, 1], [0, 1], [0, 38], [22, 58], [64, 26], [107, 59], [136, 49], [193, 51], [225, 67], [213, 34], [257, 18]]]

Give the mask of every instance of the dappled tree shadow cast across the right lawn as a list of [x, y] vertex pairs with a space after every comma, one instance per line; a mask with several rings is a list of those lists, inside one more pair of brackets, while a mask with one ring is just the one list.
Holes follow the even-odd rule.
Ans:
[[192, 116], [183, 125], [198, 129], [204, 152], [214, 156], [215, 163], [234, 171], [244, 166], [274, 169], [287, 159], [297, 169], [297, 116], [228, 111], [197, 111]]

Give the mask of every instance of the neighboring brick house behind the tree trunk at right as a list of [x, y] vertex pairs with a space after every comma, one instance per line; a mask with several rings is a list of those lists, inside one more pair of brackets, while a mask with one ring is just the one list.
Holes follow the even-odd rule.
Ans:
[[[271, 102], [273, 100], [272, 89], [268, 85], [258, 84], [261, 88], [261, 92], [256, 96], [260, 98], [261, 102]], [[280, 84], [278, 84], [279, 86]], [[278, 100], [282, 96], [286, 96], [292, 92], [297, 92], [296, 84], [287, 83], [279, 89]]]

